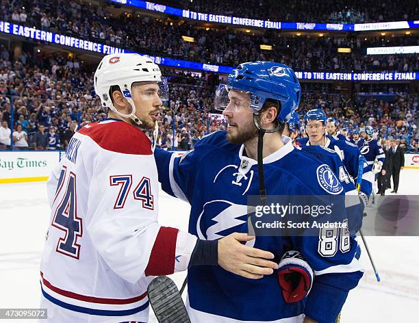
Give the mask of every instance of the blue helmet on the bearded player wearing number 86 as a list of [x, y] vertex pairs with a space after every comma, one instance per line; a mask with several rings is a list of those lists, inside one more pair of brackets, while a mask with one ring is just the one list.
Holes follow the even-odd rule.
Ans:
[[[278, 114], [279, 122], [299, 107], [301, 86], [292, 68], [275, 62], [249, 62], [237, 66], [227, 77], [227, 84], [220, 84], [216, 92], [214, 105], [216, 109], [225, 109], [228, 100], [223, 92], [231, 89], [249, 92], [251, 94], [250, 107], [254, 112], [262, 109], [266, 99], [277, 100], [281, 103]], [[228, 99], [228, 98], [227, 98]], [[226, 104], [227, 103], [227, 104]]]

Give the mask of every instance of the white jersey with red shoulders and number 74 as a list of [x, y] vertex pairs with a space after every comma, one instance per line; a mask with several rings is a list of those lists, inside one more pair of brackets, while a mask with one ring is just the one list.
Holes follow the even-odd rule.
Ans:
[[115, 119], [87, 125], [47, 186], [40, 276], [49, 322], [147, 322], [151, 275], [174, 272], [177, 240], [196, 242], [157, 224], [150, 140]]

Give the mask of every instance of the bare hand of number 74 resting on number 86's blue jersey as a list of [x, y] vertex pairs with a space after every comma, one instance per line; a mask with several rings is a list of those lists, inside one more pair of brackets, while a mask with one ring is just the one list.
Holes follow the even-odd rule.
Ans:
[[261, 279], [264, 275], [272, 274], [278, 268], [277, 263], [266, 260], [274, 258], [272, 253], [240, 243], [253, 239], [255, 237], [246, 233], [231, 233], [218, 240], [218, 265], [249, 279]]

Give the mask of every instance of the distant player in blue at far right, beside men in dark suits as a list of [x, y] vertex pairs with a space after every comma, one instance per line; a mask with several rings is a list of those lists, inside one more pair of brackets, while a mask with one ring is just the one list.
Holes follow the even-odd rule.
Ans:
[[372, 139], [373, 129], [371, 126], [366, 126], [362, 132], [361, 145], [359, 144], [359, 151], [364, 155], [366, 162], [369, 166], [372, 167], [372, 174], [369, 174], [369, 181], [375, 181], [376, 175], [381, 172], [382, 175], [385, 175], [385, 170], [383, 170], [383, 163], [385, 161], [385, 153], [383, 147], [377, 139]]

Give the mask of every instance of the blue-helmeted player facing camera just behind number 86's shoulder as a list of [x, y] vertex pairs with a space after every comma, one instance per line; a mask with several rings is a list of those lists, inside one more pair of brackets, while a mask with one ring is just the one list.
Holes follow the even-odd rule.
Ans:
[[[307, 135], [309, 135], [307, 146], [320, 145], [338, 153], [348, 174], [351, 175], [353, 181], [356, 182], [358, 177], [359, 155], [361, 155], [361, 153], [355, 144], [352, 144], [347, 140], [334, 140], [333, 138], [328, 138], [326, 135], [326, 120], [326, 114], [322, 109], [312, 109], [305, 114], [303, 122], [305, 131], [307, 132]], [[364, 205], [366, 205], [368, 197], [372, 192], [373, 181], [371, 181], [371, 175], [372, 168], [368, 166], [368, 164], [365, 164], [361, 181], [361, 196]]]

